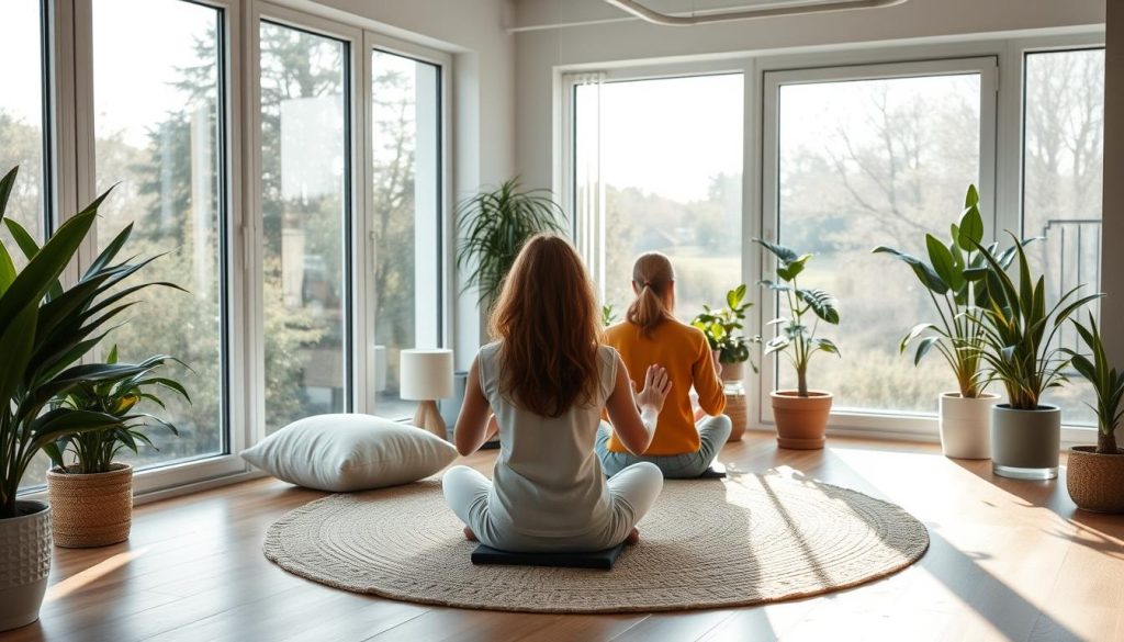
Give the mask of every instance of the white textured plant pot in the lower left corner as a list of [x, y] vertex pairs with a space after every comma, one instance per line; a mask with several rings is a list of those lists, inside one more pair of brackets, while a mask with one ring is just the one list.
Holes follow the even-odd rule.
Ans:
[[51, 507], [17, 501], [19, 517], [0, 519], [0, 631], [39, 618], [51, 572]]

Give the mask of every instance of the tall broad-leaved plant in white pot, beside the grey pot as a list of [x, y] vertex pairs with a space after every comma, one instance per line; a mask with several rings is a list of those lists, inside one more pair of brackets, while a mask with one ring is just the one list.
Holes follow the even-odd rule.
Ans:
[[[898, 350], [905, 353], [916, 345], [914, 365], [935, 351], [952, 370], [958, 389], [942, 392], [937, 399], [941, 449], [945, 456], [962, 459], [991, 456], [991, 406], [999, 399], [998, 395], [985, 391], [988, 379], [981, 368], [984, 331], [980, 317], [971, 314], [987, 302], [986, 283], [964, 275], [966, 270], [978, 270], [986, 264], [976, 250], [984, 239], [979, 202], [976, 186], [968, 186], [960, 224], [951, 226], [949, 242], [925, 235], [928, 263], [885, 245], [873, 250], [909, 265], [933, 301], [937, 320], [915, 325], [898, 343]], [[996, 250], [997, 244], [989, 247], [992, 253]], [[1012, 259], [1013, 248], [999, 256], [999, 263], [1006, 268]]]

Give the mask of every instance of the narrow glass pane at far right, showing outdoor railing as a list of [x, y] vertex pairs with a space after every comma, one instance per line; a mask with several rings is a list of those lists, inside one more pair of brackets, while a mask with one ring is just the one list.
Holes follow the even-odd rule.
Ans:
[[[1028, 54], [1025, 90], [1023, 235], [1042, 237], [1028, 247], [1030, 259], [1053, 305], [1082, 283], [1081, 292], [1100, 291], [1105, 52]], [[1088, 310], [1099, 317], [1099, 305]], [[1085, 352], [1070, 325], [1059, 341]], [[1070, 381], [1045, 400], [1061, 406], [1066, 424], [1096, 425], [1086, 406], [1095, 399], [1091, 387], [1076, 372]]]

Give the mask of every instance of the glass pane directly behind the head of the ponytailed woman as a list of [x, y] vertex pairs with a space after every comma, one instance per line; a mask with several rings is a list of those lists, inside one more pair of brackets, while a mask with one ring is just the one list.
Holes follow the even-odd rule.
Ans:
[[578, 173], [599, 164], [605, 195], [595, 279], [618, 318], [643, 252], [671, 257], [683, 320], [742, 282], [742, 97], [741, 74], [577, 88]]

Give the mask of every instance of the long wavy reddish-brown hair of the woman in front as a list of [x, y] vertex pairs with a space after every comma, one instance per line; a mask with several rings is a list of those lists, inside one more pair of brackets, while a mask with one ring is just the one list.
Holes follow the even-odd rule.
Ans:
[[513, 404], [558, 417], [590, 403], [600, 377], [601, 324], [593, 284], [564, 238], [527, 239], [504, 280], [489, 331], [504, 341], [499, 388]]

